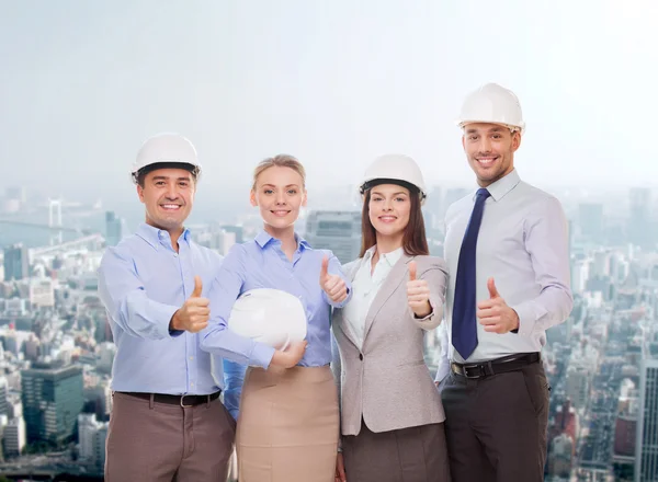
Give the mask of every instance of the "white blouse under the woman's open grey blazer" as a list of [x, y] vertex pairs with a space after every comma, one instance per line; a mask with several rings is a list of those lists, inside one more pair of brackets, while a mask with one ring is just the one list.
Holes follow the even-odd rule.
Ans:
[[372, 259], [376, 246], [371, 248], [363, 255], [363, 263], [352, 280], [352, 299], [343, 308], [343, 319], [347, 321], [347, 330], [350, 331], [352, 340], [359, 348], [363, 347], [363, 331], [365, 318], [371, 305], [377, 296], [377, 291], [386, 280], [388, 273], [402, 255], [402, 248], [390, 253], [381, 253], [379, 260], [372, 271]]

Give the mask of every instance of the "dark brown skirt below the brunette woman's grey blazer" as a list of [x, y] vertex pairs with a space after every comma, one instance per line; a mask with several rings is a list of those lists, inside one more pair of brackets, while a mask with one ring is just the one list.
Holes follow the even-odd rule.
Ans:
[[350, 482], [450, 482], [443, 424], [376, 434], [362, 421], [342, 449]]

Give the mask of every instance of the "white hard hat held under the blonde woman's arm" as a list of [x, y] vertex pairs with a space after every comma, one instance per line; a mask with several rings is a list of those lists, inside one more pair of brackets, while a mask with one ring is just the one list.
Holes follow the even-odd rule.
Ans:
[[285, 349], [306, 337], [306, 311], [302, 301], [281, 289], [257, 288], [234, 303], [228, 329], [241, 336]]

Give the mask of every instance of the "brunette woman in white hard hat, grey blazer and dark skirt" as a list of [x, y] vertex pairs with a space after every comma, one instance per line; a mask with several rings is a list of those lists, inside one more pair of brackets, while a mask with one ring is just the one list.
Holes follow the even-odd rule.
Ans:
[[353, 296], [334, 310], [341, 440], [336, 480], [450, 480], [441, 397], [423, 359], [441, 323], [447, 272], [429, 256], [420, 169], [383, 156], [367, 169], [360, 257], [345, 265]]

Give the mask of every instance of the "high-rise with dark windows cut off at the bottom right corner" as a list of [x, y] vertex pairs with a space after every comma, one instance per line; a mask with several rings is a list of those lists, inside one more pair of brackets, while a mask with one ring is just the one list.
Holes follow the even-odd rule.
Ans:
[[640, 364], [635, 482], [658, 482], [658, 359]]

